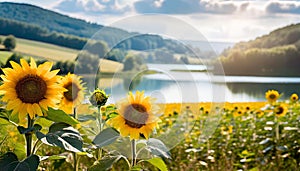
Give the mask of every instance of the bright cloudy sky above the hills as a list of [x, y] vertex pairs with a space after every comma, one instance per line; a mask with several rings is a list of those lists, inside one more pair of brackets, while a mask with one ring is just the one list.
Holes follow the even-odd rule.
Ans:
[[[123, 27], [129, 31], [143, 31], [137, 27], [143, 18], [136, 17], [135, 24], [121, 25], [122, 21], [145, 14], [172, 17], [178, 25], [183, 22], [196, 29], [208, 41], [239, 42], [255, 39], [270, 31], [300, 23], [300, 0], [5, 0], [37, 5], [71, 17], [106, 26]], [[3, 0], [0, 0], [3, 2]], [[174, 20], [174, 21], [175, 21]], [[151, 21], [158, 29], [160, 24]], [[173, 20], [172, 20], [173, 21]], [[117, 24], [116, 24], [117, 23]], [[188, 31], [173, 29], [197, 40]], [[175, 26], [175, 27], [174, 27]], [[142, 29], [141, 29], [142, 28]], [[153, 28], [155, 30], [155, 28]], [[177, 30], [176, 30], [177, 29]], [[146, 29], [147, 30], [147, 29]], [[170, 29], [169, 29], [170, 30]], [[187, 29], [189, 30], [189, 29]], [[163, 31], [160, 34], [166, 34]]]

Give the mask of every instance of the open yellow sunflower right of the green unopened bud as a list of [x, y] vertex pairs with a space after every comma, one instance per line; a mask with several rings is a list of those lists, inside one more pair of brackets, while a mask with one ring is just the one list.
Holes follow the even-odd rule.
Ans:
[[116, 128], [121, 136], [129, 135], [130, 140], [139, 139], [140, 134], [148, 139], [159, 120], [154, 115], [158, 108], [153, 101], [149, 96], [144, 97], [144, 92], [137, 91], [135, 96], [130, 92], [127, 99], [117, 104], [119, 115], [107, 123]]

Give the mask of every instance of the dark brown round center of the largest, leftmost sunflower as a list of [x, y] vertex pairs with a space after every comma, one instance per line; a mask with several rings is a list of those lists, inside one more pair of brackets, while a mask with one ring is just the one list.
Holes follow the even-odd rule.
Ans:
[[16, 85], [17, 96], [24, 103], [40, 102], [45, 99], [46, 91], [46, 82], [37, 75], [27, 75], [19, 80]]

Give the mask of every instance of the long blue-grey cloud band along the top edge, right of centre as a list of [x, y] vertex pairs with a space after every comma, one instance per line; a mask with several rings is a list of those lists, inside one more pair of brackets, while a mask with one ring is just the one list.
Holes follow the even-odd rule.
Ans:
[[134, 3], [138, 13], [163, 14], [232, 14], [247, 6], [247, 2], [209, 0], [140, 0]]

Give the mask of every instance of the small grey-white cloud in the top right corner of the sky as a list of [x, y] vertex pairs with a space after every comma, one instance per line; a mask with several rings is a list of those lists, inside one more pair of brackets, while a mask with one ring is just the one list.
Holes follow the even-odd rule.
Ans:
[[266, 11], [268, 13], [291, 13], [300, 14], [300, 2], [271, 2], [267, 5]]

